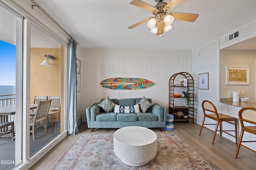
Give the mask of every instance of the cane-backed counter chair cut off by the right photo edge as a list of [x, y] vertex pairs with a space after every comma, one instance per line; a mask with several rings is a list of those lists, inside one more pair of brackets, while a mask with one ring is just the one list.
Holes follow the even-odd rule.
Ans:
[[[241, 124], [241, 133], [238, 141], [238, 146], [236, 149], [236, 155], [235, 158], [238, 156], [238, 152], [240, 149], [240, 146], [243, 146], [249, 150], [252, 150], [253, 152], [256, 152], [253, 149], [250, 149], [249, 147], [246, 147], [245, 145], [242, 145], [242, 142], [256, 142], [256, 141], [242, 141], [244, 131], [256, 135], [256, 108], [253, 107], [244, 107], [239, 110], [238, 117]], [[245, 126], [246, 125], [246, 126]]]

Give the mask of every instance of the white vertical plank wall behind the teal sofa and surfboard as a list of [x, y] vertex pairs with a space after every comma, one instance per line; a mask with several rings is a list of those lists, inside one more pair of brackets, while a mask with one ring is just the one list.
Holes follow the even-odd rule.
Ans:
[[[169, 78], [176, 72], [189, 72], [190, 51], [132, 49], [84, 49], [85, 107], [101, 98], [151, 98], [168, 108]], [[145, 90], [108, 90], [100, 81], [113, 77], [139, 77], [156, 83]]]

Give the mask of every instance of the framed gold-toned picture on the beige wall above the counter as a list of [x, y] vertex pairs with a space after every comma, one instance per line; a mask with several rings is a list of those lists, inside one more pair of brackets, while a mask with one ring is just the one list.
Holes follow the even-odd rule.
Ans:
[[226, 66], [226, 85], [249, 85], [249, 66]]

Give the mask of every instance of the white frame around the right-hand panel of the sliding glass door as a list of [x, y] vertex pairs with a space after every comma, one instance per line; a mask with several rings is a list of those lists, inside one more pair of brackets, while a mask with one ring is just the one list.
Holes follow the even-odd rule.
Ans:
[[[8, 9], [10, 12], [22, 18], [23, 27], [22, 30], [16, 32], [17, 36], [17, 56], [16, 56], [16, 143], [15, 143], [15, 163], [16, 168], [29, 169], [34, 163], [36, 163], [44, 154], [46, 154], [54, 145], [59, 143], [66, 135], [66, 114], [64, 114], [64, 131], [58, 135], [53, 141], [46, 145], [42, 150], [30, 158], [30, 133], [29, 133], [29, 113], [30, 107], [30, 27], [31, 24], [38, 27], [41, 31], [44, 31], [47, 35], [58, 41], [65, 49], [65, 59], [63, 60], [62, 66], [62, 77], [61, 82], [63, 89], [61, 90], [62, 101], [66, 101], [66, 60], [69, 58], [69, 42], [70, 36], [66, 35], [64, 31], [61, 31], [56, 25], [51, 25], [48, 28], [44, 24], [37, 23], [37, 15], [31, 16], [26, 12], [26, 9], [20, 8], [20, 4], [0, 0], [0, 5]], [[22, 4], [21, 4], [22, 5]], [[27, 16], [28, 15], [28, 16]], [[40, 17], [39, 17], [40, 18]], [[41, 21], [40, 21], [41, 22]], [[54, 33], [52, 30], [59, 31]], [[63, 36], [63, 37], [62, 37]], [[62, 38], [61, 38], [62, 37]], [[62, 110], [66, 113], [66, 106], [62, 106]], [[19, 164], [18, 164], [19, 162]]]

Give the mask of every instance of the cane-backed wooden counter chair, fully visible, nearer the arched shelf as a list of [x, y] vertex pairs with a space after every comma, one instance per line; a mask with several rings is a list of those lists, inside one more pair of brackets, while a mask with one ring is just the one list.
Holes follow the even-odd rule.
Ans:
[[[222, 132], [224, 132], [224, 133], [226, 133], [226, 134], [228, 134], [232, 137], [235, 137], [236, 144], [237, 144], [237, 118], [231, 117], [231, 116], [228, 116], [228, 115], [224, 115], [222, 113], [218, 113], [214, 104], [212, 102], [210, 102], [209, 100], [204, 100], [202, 102], [202, 109], [204, 111], [204, 118], [203, 118], [203, 122], [202, 122], [202, 125], [201, 125], [199, 136], [201, 135], [203, 127], [205, 127], [206, 129], [214, 132], [214, 136], [213, 136], [213, 139], [212, 139], [212, 144], [214, 144], [214, 140], [215, 140], [215, 137], [216, 137], [216, 134], [217, 134], [218, 131], [220, 132], [220, 136], [222, 136]], [[206, 117], [216, 121], [216, 124], [213, 124], [213, 123], [206, 124], [206, 123], [204, 123]], [[223, 121], [234, 125], [235, 130], [223, 130], [222, 129], [222, 122]], [[212, 129], [206, 127], [205, 125], [216, 125], [216, 127], [215, 127], [215, 130], [213, 131]], [[220, 125], [220, 130], [218, 130], [219, 125]], [[231, 133], [228, 133], [228, 131], [235, 132], [235, 135], [232, 135]]]

